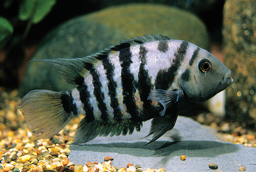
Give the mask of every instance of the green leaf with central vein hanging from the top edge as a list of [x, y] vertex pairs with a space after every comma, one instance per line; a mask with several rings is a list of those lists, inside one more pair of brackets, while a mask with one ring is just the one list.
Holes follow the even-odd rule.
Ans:
[[32, 19], [33, 24], [40, 22], [52, 9], [57, 0], [22, 0], [19, 7], [19, 19]]

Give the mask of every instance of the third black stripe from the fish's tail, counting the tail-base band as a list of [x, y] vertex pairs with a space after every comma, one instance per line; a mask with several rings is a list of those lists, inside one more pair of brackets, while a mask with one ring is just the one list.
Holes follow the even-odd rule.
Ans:
[[95, 70], [95, 68], [91, 63], [86, 63], [85, 67], [88, 71], [90, 71], [90, 74], [93, 77], [93, 86], [94, 86], [93, 94], [95, 95], [96, 100], [99, 102], [98, 107], [99, 107], [99, 110], [101, 111], [101, 119], [105, 121], [106, 119], [108, 119], [108, 115], [106, 113], [106, 104], [103, 102], [104, 94], [101, 92], [102, 84], [99, 80], [99, 75], [97, 74], [97, 71]]

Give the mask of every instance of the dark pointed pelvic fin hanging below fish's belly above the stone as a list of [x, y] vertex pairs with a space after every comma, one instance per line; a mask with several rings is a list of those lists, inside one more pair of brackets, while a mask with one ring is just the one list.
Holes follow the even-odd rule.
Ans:
[[156, 141], [166, 132], [172, 130], [176, 123], [177, 117], [178, 117], [178, 113], [174, 113], [174, 114], [166, 114], [164, 116], [158, 116], [154, 118], [151, 122], [150, 133], [147, 135], [147, 136], [150, 136], [153, 134], [153, 137], [152, 137], [152, 140], [147, 144], [150, 144]]

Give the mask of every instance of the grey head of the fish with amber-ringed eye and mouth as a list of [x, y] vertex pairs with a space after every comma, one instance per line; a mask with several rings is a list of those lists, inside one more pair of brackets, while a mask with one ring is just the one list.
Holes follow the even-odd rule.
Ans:
[[187, 65], [178, 82], [191, 103], [202, 103], [225, 90], [233, 81], [231, 71], [214, 55], [200, 49], [193, 65]]

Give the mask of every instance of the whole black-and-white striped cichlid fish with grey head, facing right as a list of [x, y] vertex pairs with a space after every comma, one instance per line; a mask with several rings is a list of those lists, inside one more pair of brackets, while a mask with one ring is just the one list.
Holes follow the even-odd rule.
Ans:
[[153, 142], [172, 130], [180, 112], [226, 89], [230, 70], [208, 51], [163, 35], [144, 35], [120, 41], [83, 58], [38, 59], [54, 65], [67, 82], [78, 84], [54, 92], [33, 90], [19, 103], [29, 130], [51, 138], [75, 116], [72, 144], [97, 136], [140, 131], [152, 119]]

